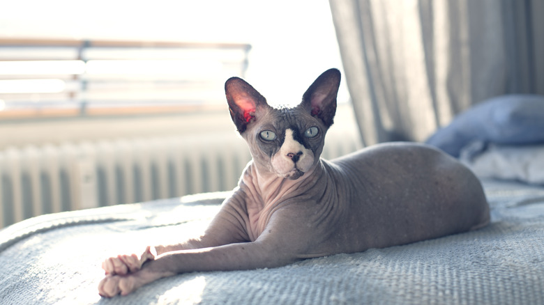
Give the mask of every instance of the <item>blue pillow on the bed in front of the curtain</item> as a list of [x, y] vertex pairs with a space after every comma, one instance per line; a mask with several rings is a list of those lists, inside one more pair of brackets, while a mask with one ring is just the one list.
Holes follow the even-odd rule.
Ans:
[[426, 143], [459, 157], [472, 141], [505, 145], [544, 143], [544, 96], [502, 95], [468, 109]]

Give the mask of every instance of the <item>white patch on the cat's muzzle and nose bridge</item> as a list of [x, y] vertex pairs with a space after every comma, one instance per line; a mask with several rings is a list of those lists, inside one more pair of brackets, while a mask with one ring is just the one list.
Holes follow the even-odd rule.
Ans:
[[[294, 161], [292, 155], [297, 155]], [[293, 130], [285, 130], [285, 140], [278, 153], [272, 156], [272, 166], [276, 173], [282, 178], [299, 178], [303, 173], [310, 170], [314, 163], [314, 153], [306, 149], [293, 136]]]

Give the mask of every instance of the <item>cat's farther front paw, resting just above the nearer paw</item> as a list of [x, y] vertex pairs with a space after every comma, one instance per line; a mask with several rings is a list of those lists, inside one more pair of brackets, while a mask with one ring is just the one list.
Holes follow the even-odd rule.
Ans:
[[102, 269], [106, 275], [126, 275], [137, 272], [142, 268], [142, 265], [148, 260], [154, 260], [156, 257], [154, 247], [147, 247], [141, 256], [137, 254], [119, 255], [112, 258], [107, 258], [102, 263]]

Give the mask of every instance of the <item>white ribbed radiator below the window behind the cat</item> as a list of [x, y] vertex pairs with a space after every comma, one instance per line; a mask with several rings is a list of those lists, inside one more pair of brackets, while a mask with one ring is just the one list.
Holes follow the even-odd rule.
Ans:
[[[323, 156], [357, 148], [328, 136]], [[249, 160], [242, 139], [202, 136], [7, 148], [0, 151], [0, 228], [40, 214], [229, 190]]]

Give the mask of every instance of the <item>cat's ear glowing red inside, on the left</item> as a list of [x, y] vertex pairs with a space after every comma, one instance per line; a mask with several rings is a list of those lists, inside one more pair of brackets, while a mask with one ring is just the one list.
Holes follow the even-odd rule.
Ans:
[[255, 120], [257, 107], [268, 105], [264, 96], [239, 77], [227, 79], [225, 95], [229, 103], [230, 116], [240, 133], [245, 132], [248, 124]]

